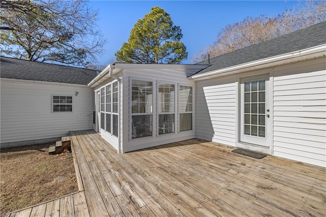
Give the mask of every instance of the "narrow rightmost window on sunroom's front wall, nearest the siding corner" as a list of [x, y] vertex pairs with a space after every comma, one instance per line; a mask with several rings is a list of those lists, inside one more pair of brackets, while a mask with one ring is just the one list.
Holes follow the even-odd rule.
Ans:
[[179, 131], [193, 129], [193, 87], [179, 86]]

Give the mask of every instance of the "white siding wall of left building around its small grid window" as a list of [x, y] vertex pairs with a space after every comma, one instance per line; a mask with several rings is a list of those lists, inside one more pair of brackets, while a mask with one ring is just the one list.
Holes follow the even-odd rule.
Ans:
[[[52, 113], [51, 95], [72, 96], [73, 112]], [[62, 137], [69, 130], [92, 128], [91, 88], [1, 79], [2, 147], [8, 146], [8, 143]]]

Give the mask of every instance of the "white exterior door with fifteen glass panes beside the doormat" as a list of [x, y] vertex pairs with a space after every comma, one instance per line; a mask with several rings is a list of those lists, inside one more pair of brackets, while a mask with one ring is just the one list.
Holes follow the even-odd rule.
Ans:
[[269, 146], [268, 77], [240, 79], [240, 142]]

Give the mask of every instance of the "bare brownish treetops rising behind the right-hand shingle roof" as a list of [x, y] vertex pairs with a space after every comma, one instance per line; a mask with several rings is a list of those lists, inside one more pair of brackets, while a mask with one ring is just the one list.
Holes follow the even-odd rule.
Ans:
[[225, 53], [254, 45], [263, 41], [304, 29], [309, 25], [326, 20], [326, 2], [306, 1], [283, 14], [274, 17], [260, 15], [246, 17], [241, 22], [227, 25], [219, 32], [217, 40], [192, 58], [197, 63], [210, 57], [218, 57]]

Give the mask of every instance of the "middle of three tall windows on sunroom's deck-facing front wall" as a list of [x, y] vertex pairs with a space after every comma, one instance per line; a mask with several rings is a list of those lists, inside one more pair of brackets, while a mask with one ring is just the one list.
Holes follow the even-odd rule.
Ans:
[[158, 134], [174, 132], [175, 85], [158, 84]]

